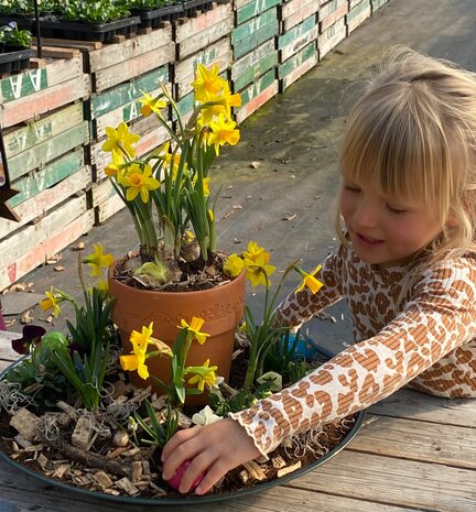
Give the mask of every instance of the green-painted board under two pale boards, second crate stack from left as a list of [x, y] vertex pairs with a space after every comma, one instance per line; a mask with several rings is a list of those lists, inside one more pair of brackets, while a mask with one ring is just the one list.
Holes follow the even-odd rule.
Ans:
[[159, 81], [165, 83], [169, 79], [169, 66], [161, 66], [105, 92], [93, 95], [87, 119], [97, 119], [118, 107], [130, 104], [142, 96], [141, 90], [149, 92], [158, 88]]

